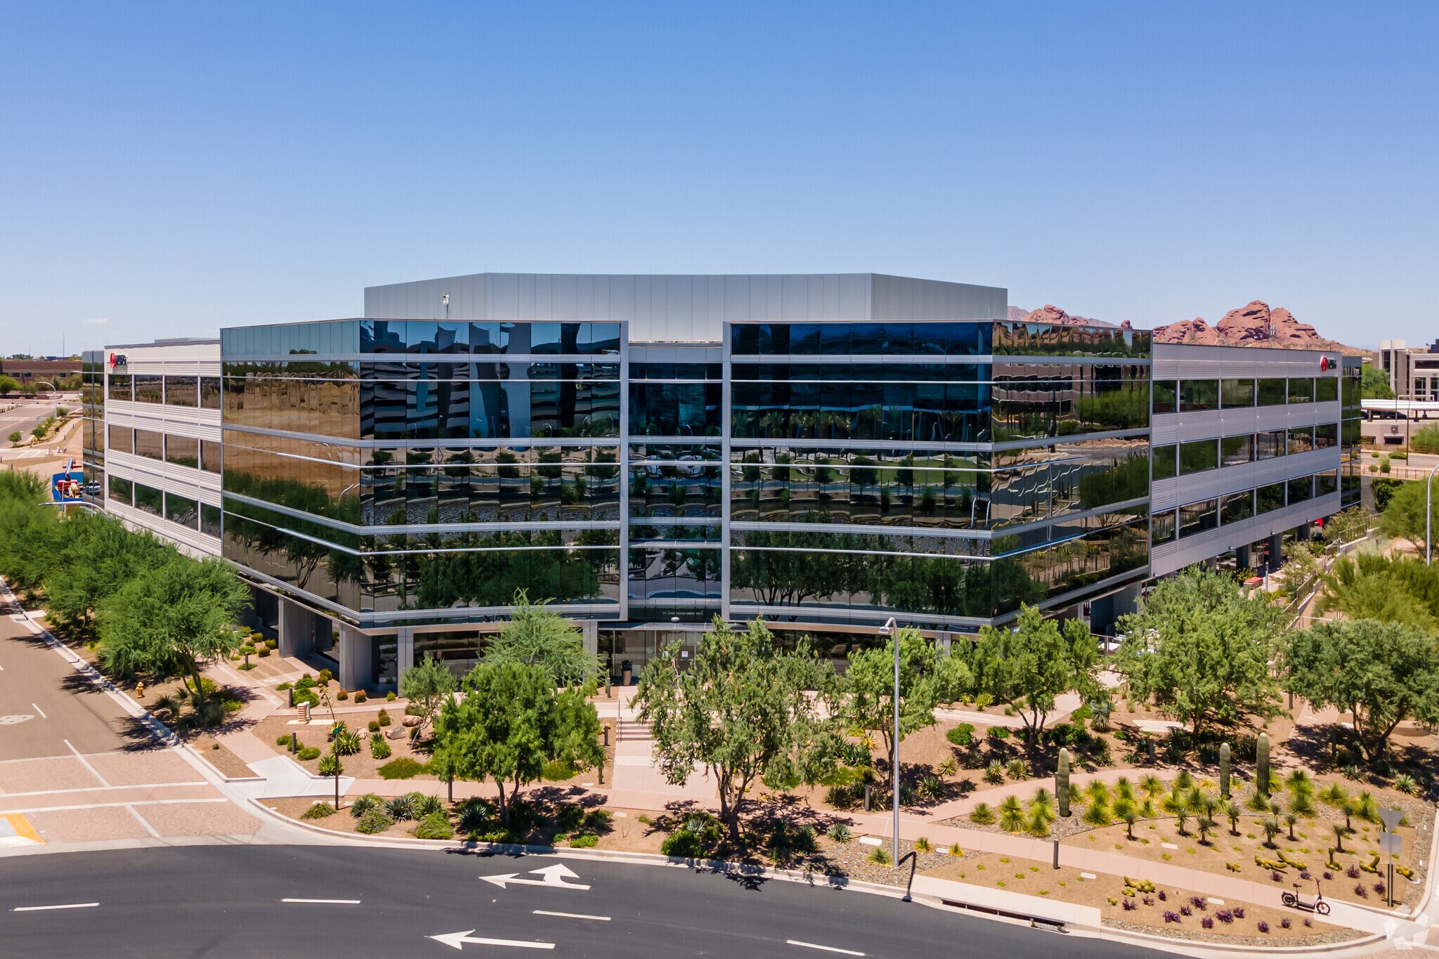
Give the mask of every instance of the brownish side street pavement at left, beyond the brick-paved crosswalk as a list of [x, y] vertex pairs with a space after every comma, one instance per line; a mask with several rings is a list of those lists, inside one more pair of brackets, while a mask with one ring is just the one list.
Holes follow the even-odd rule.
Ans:
[[0, 759], [65, 756], [71, 746], [94, 753], [132, 745], [134, 722], [119, 703], [10, 618], [19, 611], [13, 594], [0, 584]]

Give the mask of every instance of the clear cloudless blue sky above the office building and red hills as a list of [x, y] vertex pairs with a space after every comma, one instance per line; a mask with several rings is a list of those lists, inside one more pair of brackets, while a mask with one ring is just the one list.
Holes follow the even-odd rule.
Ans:
[[0, 0], [0, 354], [481, 270], [1439, 335], [1439, 3]]

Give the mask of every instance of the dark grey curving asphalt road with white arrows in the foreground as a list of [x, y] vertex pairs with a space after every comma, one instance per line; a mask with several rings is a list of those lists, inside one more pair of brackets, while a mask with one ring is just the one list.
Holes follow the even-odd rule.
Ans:
[[[531, 870], [555, 864], [574, 873], [557, 877], [571, 887], [479, 878], [547, 883]], [[36, 909], [55, 906], [79, 907]], [[553, 857], [186, 845], [27, 855], [0, 868], [6, 959], [449, 956], [455, 947], [432, 936], [452, 933], [507, 940], [459, 943], [481, 956], [1157, 955], [858, 891]]]

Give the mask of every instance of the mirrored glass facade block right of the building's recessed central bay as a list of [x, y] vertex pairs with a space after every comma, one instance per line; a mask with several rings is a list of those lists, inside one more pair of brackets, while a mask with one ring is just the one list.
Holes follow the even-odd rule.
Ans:
[[730, 332], [731, 618], [964, 630], [1145, 574], [1147, 332]]

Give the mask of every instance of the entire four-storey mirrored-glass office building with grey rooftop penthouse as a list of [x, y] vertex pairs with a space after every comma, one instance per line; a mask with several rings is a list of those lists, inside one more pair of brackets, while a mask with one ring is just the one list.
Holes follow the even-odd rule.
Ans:
[[[463, 669], [521, 589], [583, 623], [616, 674], [715, 615], [829, 635], [842, 656], [889, 617], [948, 638], [1022, 602], [1082, 614], [1132, 595], [1151, 543], [1200, 548], [1184, 529], [1203, 510], [1166, 483], [1204, 450], [1170, 437], [1170, 413], [1238, 404], [1238, 387], [1157, 378], [1145, 331], [1006, 306], [999, 288], [881, 275], [370, 288], [366, 319], [224, 329], [213, 355], [86, 357], [86, 470], [106, 509], [183, 523], [173, 539], [235, 562], [282, 650], [334, 654], [347, 684], [391, 684], [429, 653]], [[1173, 367], [1190, 348], [1163, 349]], [[1348, 423], [1318, 390], [1286, 384], [1309, 447], [1285, 449], [1334, 441], [1335, 462], [1286, 469], [1338, 476]], [[1219, 467], [1240, 450], [1215, 430], [1216, 474], [1248, 482]], [[1249, 428], [1253, 462], [1271, 433]], [[1309, 490], [1337, 509], [1328, 479]], [[1215, 525], [1238, 535], [1250, 518], [1227, 495]], [[1309, 509], [1289, 505], [1269, 519]]]

